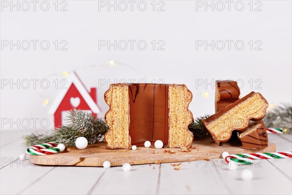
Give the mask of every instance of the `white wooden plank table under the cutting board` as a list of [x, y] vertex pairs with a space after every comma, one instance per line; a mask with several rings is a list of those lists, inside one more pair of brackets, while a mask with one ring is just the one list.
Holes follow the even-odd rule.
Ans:
[[[54, 167], [19, 161], [25, 153], [23, 135], [32, 131], [0, 132], [0, 193], [2, 194], [292, 194], [292, 159], [262, 160], [229, 171], [222, 159], [121, 167]], [[269, 135], [277, 152], [292, 151], [292, 135]], [[240, 173], [251, 169], [254, 179]]]

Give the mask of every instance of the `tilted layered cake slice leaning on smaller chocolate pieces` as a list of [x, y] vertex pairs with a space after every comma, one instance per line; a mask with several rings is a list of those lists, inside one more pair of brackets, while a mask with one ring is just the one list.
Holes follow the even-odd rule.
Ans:
[[265, 117], [268, 105], [260, 93], [251, 92], [202, 122], [214, 141], [219, 144], [228, 141], [232, 131], [244, 131], [250, 120], [258, 121]]

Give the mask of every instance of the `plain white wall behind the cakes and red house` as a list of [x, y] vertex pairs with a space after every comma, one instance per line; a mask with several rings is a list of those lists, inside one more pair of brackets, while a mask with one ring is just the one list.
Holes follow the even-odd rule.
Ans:
[[[9, 3], [1, 1], [0, 13], [0, 117], [1, 129], [17, 129], [26, 124], [13, 124], [12, 121], [21, 121], [28, 118], [31, 124], [27, 127], [47, 129], [53, 127], [53, 116], [48, 115], [48, 110], [54, 97], [61, 90], [55, 89], [55, 79], [66, 79], [62, 75], [64, 71], [75, 71], [82, 79], [86, 87], [97, 87], [98, 105], [102, 109], [99, 115], [103, 117], [108, 106], [103, 100], [106, 86], [99, 86], [99, 79], [110, 79], [114, 82], [117, 78], [146, 79], [147, 82], [163, 79], [165, 83], [184, 83], [193, 93], [190, 110], [194, 117], [214, 113], [214, 82], [216, 79], [240, 79], [244, 86], [241, 96], [251, 91], [262, 93], [270, 104], [278, 105], [281, 102], [290, 103], [292, 99], [292, 3], [290, 0], [274, 1], [233, 1], [228, 11], [228, 3], [221, 5], [217, 1], [212, 7], [198, 6], [205, 1], [178, 1], [164, 0], [163, 3], [155, 2], [153, 11], [151, 1], [145, 1], [146, 11], [140, 11], [137, 7], [139, 1], [130, 9], [130, 3], [126, 1], [126, 11], [114, 11], [114, 7], [99, 6], [98, 1], [67, 0], [57, 2], [58, 11], [55, 11], [55, 0], [48, 1], [50, 8], [42, 11], [38, 1], [36, 11], [33, 3], [28, 1], [30, 9], [24, 11], [27, 5], [18, 1], [17, 7], [11, 7]], [[108, 3], [108, 1], [104, 1]], [[221, 3], [220, 2], [220, 3]], [[14, 1], [17, 4], [17, 1]], [[111, 1], [113, 4], [114, 1]], [[119, 1], [116, 1], [117, 6]], [[212, 1], [208, 1], [209, 4]], [[217, 4], [216, 4], [217, 3]], [[235, 4], [237, 3], [237, 7]], [[250, 4], [248, 4], [250, 3]], [[241, 4], [244, 4], [242, 11]], [[251, 4], [253, 4], [252, 11]], [[3, 6], [5, 5], [5, 6]], [[46, 5], [43, 9], [46, 9]], [[66, 5], [67, 11], [60, 11]], [[140, 4], [141, 5], [141, 4]], [[157, 11], [163, 6], [164, 11]], [[197, 6], [196, 6], [197, 5]], [[216, 7], [217, 5], [217, 7]], [[122, 6], [122, 4], [120, 4]], [[262, 11], [255, 11], [256, 7]], [[124, 8], [124, 5], [120, 7]], [[143, 9], [143, 5], [139, 7]], [[205, 11], [207, 8], [207, 11]], [[12, 9], [12, 11], [11, 11]], [[48, 50], [40, 48], [39, 42], [36, 50], [31, 47], [24, 50], [26, 45], [3, 46], [3, 41], [12, 40], [17, 43], [23, 40], [47, 40], [50, 43]], [[55, 49], [55, 40], [59, 47], [61, 40], [67, 41], [67, 50]], [[126, 50], [110, 47], [99, 49], [99, 40], [145, 40], [147, 47], [141, 50], [134, 44]], [[164, 50], [155, 50], [150, 43], [155, 40], [163, 40]], [[204, 46], [196, 49], [196, 40], [207, 40], [211, 43], [218, 40], [233, 40], [230, 50], [227, 42], [225, 48], [219, 50], [221, 45], [212, 50]], [[244, 42], [244, 48], [235, 47], [235, 41]], [[251, 50], [250, 40], [253, 41]], [[262, 50], [255, 50], [255, 41], [259, 40]], [[137, 43], [137, 42], [136, 42]], [[258, 42], [257, 42], [258, 43]], [[197, 45], [198, 46], [198, 45]], [[239, 45], [240, 46], [240, 45]], [[114, 60], [115, 66], [109, 67], [109, 61]], [[30, 87], [3, 85], [3, 82], [19, 82], [23, 79], [39, 79], [36, 89], [33, 82]], [[50, 81], [49, 89], [40, 86], [40, 80]], [[252, 80], [251, 80], [252, 79]], [[256, 80], [259, 79], [259, 80]], [[102, 80], [104, 81], [104, 80]], [[203, 81], [203, 85], [196, 83]], [[204, 84], [213, 83], [213, 85]], [[108, 84], [109, 84], [108, 83]], [[253, 85], [251, 86], [251, 83]], [[261, 83], [261, 84], [260, 84]], [[22, 83], [24, 85], [24, 83]], [[44, 83], [43, 83], [44, 84]], [[59, 83], [60, 84], [60, 83]], [[256, 85], [260, 84], [256, 88]], [[209, 98], [202, 96], [206, 91]], [[44, 99], [49, 100], [47, 106], [42, 105]], [[2, 124], [3, 118], [8, 118], [8, 124]], [[36, 126], [31, 118], [38, 118]], [[50, 125], [40, 124], [39, 120], [48, 118]], [[18, 123], [19, 124], [19, 123]], [[12, 128], [11, 128], [12, 127]]]

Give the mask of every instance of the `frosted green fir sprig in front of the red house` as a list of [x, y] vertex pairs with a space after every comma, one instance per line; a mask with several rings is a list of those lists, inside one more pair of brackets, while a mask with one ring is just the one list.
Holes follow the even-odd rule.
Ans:
[[25, 136], [26, 145], [32, 146], [55, 141], [66, 147], [74, 146], [78, 137], [85, 137], [89, 144], [103, 140], [109, 127], [102, 118], [96, 118], [91, 113], [72, 109], [69, 112], [67, 124], [47, 134], [31, 134]]

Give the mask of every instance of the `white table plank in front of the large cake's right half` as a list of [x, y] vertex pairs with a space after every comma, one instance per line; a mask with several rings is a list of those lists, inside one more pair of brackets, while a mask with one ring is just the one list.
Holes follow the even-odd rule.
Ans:
[[[162, 164], [158, 194], [230, 194], [213, 161], [183, 162], [180, 170], [171, 163]], [[211, 187], [212, 186], [212, 187]]]

